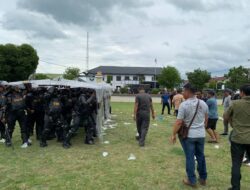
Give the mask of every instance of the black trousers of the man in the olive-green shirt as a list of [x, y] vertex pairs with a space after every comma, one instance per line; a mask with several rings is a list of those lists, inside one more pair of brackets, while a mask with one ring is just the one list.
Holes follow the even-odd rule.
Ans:
[[241, 172], [240, 168], [245, 153], [250, 155], [250, 144], [237, 144], [231, 141], [231, 157], [232, 157], [232, 178], [231, 184], [233, 190], [240, 190]]

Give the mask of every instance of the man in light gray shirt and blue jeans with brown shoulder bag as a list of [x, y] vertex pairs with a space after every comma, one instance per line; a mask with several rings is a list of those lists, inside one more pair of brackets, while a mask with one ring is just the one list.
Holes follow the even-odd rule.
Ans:
[[[198, 100], [195, 96], [196, 89], [187, 84], [184, 86], [184, 98], [186, 99], [180, 105], [177, 121], [173, 127], [171, 142], [176, 143], [176, 136], [184, 122], [190, 126], [188, 137], [180, 138], [180, 142], [186, 157], [187, 179], [183, 180], [184, 185], [197, 187], [197, 178], [195, 175], [195, 157], [198, 162], [199, 182], [206, 185], [207, 169], [204, 155], [205, 129], [208, 121], [208, 106], [204, 101]], [[197, 107], [198, 106], [198, 107]], [[197, 114], [195, 112], [197, 110]], [[193, 120], [193, 122], [192, 122]]]

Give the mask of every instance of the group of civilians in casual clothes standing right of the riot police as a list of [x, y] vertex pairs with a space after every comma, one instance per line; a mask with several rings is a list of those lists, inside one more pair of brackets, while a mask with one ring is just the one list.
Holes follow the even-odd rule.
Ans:
[[[204, 154], [206, 132], [211, 138], [208, 143], [219, 143], [219, 135], [216, 132], [219, 114], [215, 91], [209, 90], [204, 95], [191, 84], [186, 84], [183, 90], [173, 93], [165, 91], [161, 99], [162, 115], [167, 107], [168, 114], [171, 114], [173, 108], [174, 115], [177, 117], [171, 142], [176, 143], [178, 136], [185, 153], [187, 178], [183, 180], [183, 183], [197, 187], [196, 160], [198, 181], [205, 186], [207, 183], [207, 165]], [[232, 90], [225, 89], [222, 104], [224, 132], [221, 135], [229, 134], [229, 126], [233, 129], [229, 137], [232, 157], [232, 187], [229, 190], [240, 190], [241, 165], [242, 163], [250, 165], [250, 84], [242, 86], [240, 93], [234, 95]], [[152, 99], [144, 89], [141, 89], [136, 96], [134, 109], [139, 134], [136, 139], [140, 146], [145, 146], [150, 112], [154, 119]]]

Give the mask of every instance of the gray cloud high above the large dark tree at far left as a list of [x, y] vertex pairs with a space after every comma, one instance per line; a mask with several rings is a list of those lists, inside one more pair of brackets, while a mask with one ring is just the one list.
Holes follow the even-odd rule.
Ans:
[[23, 10], [8, 12], [3, 16], [2, 25], [8, 30], [23, 31], [31, 37], [66, 38], [61, 26], [53, 18], [39, 13]]

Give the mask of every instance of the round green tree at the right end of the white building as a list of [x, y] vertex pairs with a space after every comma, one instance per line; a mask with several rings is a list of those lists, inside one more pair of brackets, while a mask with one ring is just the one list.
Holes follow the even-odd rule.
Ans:
[[158, 82], [161, 86], [173, 89], [178, 87], [181, 83], [180, 72], [171, 66], [162, 69], [161, 74], [158, 76]]

